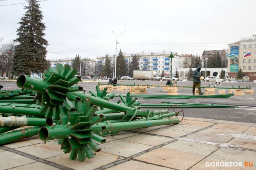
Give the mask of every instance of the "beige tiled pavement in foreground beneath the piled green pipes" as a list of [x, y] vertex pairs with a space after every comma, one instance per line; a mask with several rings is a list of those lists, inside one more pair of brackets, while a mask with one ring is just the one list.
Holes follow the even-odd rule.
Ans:
[[[107, 136], [93, 159], [69, 160], [37, 136], [0, 147], [0, 170], [256, 170], [256, 124], [185, 117], [180, 124]], [[252, 167], [206, 162], [253, 161]]]

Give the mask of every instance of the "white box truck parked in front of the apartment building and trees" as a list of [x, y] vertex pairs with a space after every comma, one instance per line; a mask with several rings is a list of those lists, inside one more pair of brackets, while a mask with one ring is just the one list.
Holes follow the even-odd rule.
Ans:
[[135, 80], [161, 80], [156, 71], [153, 70], [134, 70]]

